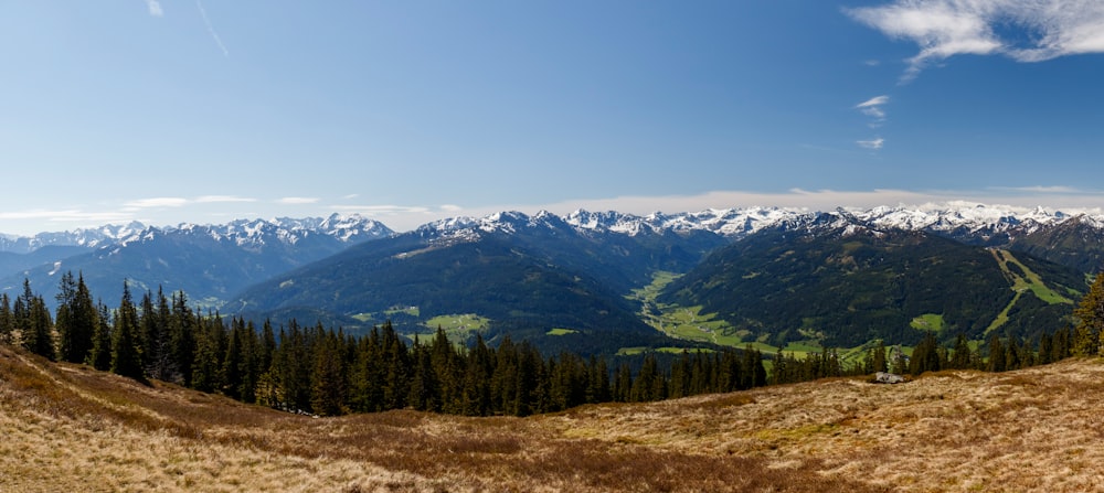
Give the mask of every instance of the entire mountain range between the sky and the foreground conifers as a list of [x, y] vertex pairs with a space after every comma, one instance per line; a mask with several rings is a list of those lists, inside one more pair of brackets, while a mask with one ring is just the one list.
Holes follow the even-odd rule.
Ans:
[[[391, 320], [415, 333], [463, 315], [488, 339], [545, 351], [854, 346], [907, 343], [925, 326], [972, 339], [1057, 329], [1100, 270], [1102, 239], [1104, 215], [972, 203], [503, 212], [404, 233], [333, 215], [4, 237], [0, 286], [49, 293], [59, 272], [79, 271], [108, 306], [127, 279], [223, 314], [348, 330]], [[687, 336], [668, 329], [679, 311], [720, 323]]]

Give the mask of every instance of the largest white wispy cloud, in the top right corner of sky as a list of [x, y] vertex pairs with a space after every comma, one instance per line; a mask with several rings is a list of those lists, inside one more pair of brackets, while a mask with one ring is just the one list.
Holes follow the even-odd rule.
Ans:
[[1104, 2], [1098, 0], [894, 0], [846, 12], [920, 46], [902, 81], [954, 55], [1041, 62], [1104, 53]]

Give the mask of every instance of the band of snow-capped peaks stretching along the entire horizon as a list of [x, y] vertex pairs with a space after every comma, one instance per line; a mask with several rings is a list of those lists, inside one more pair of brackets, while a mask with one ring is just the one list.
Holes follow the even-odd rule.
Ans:
[[[958, 240], [1002, 245], [1078, 218], [1080, 225], [1104, 229], [1100, 210], [1052, 211], [1044, 207], [986, 205], [972, 202], [946, 202], [919, 206], [879, 206], [837, 208], [831, 212], [793, 207], [711, 208], [699, 212], [635, 215], [616, 211], [577, 210], [560, 216], [548, 211], [527, 215], [505, 211], [484, 217], [457, 216], [424, 224], [415, 229], [423, 237], [473, 240], [484, 233], [517, 233], [543, 228], [549, 232], [573, 228], [580, 234], [680, 234], [709, 232], [730, 239], [741, 239], [765, 228], [824, 228], [826, 221], [846, 219], [874, 229], [925, 231]], [[64, 233], [42, 233], [33, 237], [0, 236], [0, 251], [25, 254], [43, 246], [82, 246], [98, 248], [150, 242], [158, 235], [203, 235], [217, 242], [232, 242], [242, 248], [256, 249], [266, 244], [296, 245], [319, 235], [341, 243], [359, 243], [394, 234], [383, 224], [360, 216], [333, 214], [329, 217], [238, 219], [221, 225], [180, 224], [152, 227], [141, 223], [109, 225]]]

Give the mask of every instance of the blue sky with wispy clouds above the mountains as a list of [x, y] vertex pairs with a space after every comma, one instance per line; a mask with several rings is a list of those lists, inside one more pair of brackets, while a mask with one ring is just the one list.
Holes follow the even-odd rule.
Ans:
[[0, 3], [0, 233], [1104, 205], [1104, 3]]

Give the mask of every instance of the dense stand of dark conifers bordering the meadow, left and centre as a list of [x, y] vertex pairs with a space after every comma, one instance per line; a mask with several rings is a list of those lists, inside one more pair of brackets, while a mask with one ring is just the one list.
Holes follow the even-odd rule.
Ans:
[[51, 360], [87, 364], [139, 382], [159, 379], [246, 403], [317, 415], [389, 409], [469, 416], [526, 416], [582, 404], [649, 401], [746, 389], [767, 383], [758, 351], [684, 352], [670, 367], [645, 354], [638, 369], [601, 357], [545, 357], [506, 336], [453, 344], [438, 328], [423, 341], [390, 322], [360, 336], [290, 320], [257, 328], [189, 307], [183, 292], [146, 291], [125, 282], [119, 306], [94, 302], [83, 276], [62, 276], [51, 317], [23, 282], [0, 294], [0, 341]]

